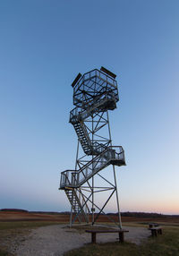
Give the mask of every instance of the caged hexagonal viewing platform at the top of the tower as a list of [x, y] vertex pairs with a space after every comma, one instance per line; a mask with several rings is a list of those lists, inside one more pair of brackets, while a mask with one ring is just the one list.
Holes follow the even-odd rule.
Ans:
[[103, 100], [103, 106], [96, 106], [97, 111], [107, 111], [115, 109], [119, 100], [117, 82], [106, 73], [94, 69], [89, 73], [84, 73], [81, 79], [73, 87], [73, 105], [87, 109], [97, 105]]

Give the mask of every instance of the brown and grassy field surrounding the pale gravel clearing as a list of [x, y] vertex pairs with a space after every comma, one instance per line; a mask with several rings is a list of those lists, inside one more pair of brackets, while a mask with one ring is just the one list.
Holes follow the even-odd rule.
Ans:
[[[25, 241], [31, 229], [39, 226], [55, 224], [68, 224], [69, 215], [52, 213], [31, 213], [18, 211], [0, 211], [0, 256], [12, 256], [8, 248]], [[116, 218], [116, 216], [114, 216]], [[103, 256], [179, 256], [179, 218], [122, 218], [124, 226], [148, 227], [149, 222], [157, 222], [163, 226], [163, 235], [157, 238], [149, 237], [145, 243], [136, 245], [134, 243], [104, 243], [87, 244], [81, 249], [66, 252], [66, 256], [80, 255], [103, 255]], [[107, 218], [101, 216], [98, 222], [107, 223]]]

